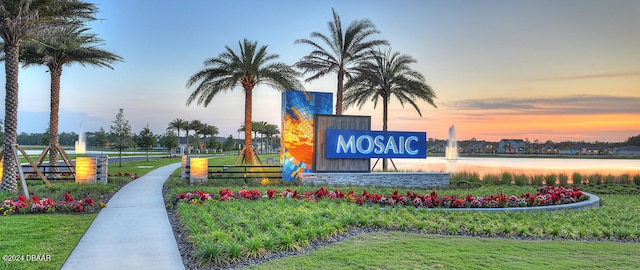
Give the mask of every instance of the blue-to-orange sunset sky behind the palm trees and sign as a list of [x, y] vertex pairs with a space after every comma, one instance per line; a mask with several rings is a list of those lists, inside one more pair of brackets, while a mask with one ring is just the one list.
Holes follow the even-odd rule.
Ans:
[[[108, 68], [65, 67], [60, 131], [109, 130], [119, 108], [133, 131], [163, 133], [175, 118], [198, 119], [237, 137], [243, 123], [241, 88], [209, 107], [185, 106], [187, 79], [225, 45], [248, 38], [293, 64], [310, 52], [294, 44], [313, 31], [328, 33], [331, 8], [344, 27], [371, 20], [394, 51], [417, 60], [435, 90], [438, 108], [421, 103], [422, 117], [392, 100], [389, 129], [426, 131], [446, 139], [498, 141], [625, 141], [640, 134], [640, 1], [95, 1], [91, 32], [102, 48], [124, 58]], [[0, 67], [4, 74], [4, 65]], [[4, 85], [4, 76], [0, 82]], [[305, 83], [335, 92], [336, 78]], [[4, 93], [4, 91], [2, 92]], [[4, 96], [4, 94], [2, 94]], [[254, 121], [280, 123], [280, 93], [254, 89]], [[49, 74], [20, 70], [18, 132], [48, 125]], [[4, 114], [4, 103], [2, 103]], [[350, 108], [381, 129], [381, 106]]]

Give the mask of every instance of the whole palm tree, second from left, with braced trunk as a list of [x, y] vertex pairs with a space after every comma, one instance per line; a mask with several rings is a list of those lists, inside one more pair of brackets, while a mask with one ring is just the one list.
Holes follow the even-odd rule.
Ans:
[[113, 69], [111, 64], [122, 61], [114, 53], [98, 48], [103, 40], [96, 34], [87, 33], [88, 28], [79, 25], [63, 26], [55, 29], [51, 36], [36, 38], [24, 43], [20, 61], [24, 66], [45, 65], [51, 76], [51, 109], [49, 114], [49, 164], [57, 166], [58, 152], [58, 112], [60, 108], [60, 77], [62, 67], [79, 63]]

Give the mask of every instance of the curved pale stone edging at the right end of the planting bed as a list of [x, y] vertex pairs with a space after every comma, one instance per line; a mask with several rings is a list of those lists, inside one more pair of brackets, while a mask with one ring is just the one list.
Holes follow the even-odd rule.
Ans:
[[534, 207], [504, 207], [504, 208], [416, 208], [427, 211], [481, 211], [481, 212], [525, 212], [525, 211], [555, 211], [555, 210], [585, 210], [600, 208], [600, 197], [591, 193], [582, 192], [589, 196], [586, 201], [570, 204], [534, 206]]

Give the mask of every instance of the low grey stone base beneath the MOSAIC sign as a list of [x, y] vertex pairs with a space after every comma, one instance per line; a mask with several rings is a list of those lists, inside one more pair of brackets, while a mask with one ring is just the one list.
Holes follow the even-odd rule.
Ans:
[[432, 188], [449, 186], [449, 174], [438, 172], [304, 173], [303, 185]]

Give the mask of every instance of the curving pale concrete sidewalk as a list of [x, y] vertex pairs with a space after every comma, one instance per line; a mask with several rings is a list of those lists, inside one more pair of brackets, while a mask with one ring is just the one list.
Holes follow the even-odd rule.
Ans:
[[160, 167], [122, 187], [62, 269], [184, 269], [162, 197], [162, 185], [178, 167]]

